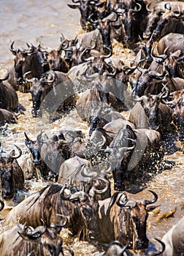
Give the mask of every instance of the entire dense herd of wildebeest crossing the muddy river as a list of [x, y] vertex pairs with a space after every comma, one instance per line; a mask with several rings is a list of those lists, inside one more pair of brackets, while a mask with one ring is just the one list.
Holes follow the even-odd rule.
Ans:
[[[25, 168], [19, 146], [1, 150], [1, 210], [26, 180], [51, 181], [1, 219], [1, 256], [74, 255], [59, 235], [62, 227], [100, 246], [98, 256], [147, 249], [148, 212], [158, 196], [148, 190], [145, 200], [129, 200], [126, 190], [163, 166], [168, 141], [169, 150], [183, 150], [175, 145], [184, 136], [183, 1], [72, 1], [82, 34], [61, 34], [57, 50], [9, 45], [15, 64], [0, 72], [0, 124], [26, 112], [21, 91], [31, 93], [33, 118], [47, 113], [53, 122], [76, 109], [89, 132], [58, 130], [49, 137], [41, 131], [35, 140], [25, 132]], [[134, 51], [131, 63], [113, 54], [115, 42], [120, 51]], [[184, 255], [183, 225], [184, 218], [156, 239], [159, 251], [145, 253]]]

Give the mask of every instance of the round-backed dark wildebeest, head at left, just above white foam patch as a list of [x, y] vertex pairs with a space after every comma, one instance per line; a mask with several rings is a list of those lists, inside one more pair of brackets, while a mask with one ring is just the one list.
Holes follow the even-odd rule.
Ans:
[[[49, 70], [39, 80], [31, 79], [30, 89], [33, 101], [32, 115], [34, 117], [43, 111], [50, 113], [53, 121], [58, 112], [64, 115], [76, 102], [72, 80], [63, 72]], [[59, 114], [58, 114], [59, 116]], [[57, 117], [56, 117], [57, 118]]]

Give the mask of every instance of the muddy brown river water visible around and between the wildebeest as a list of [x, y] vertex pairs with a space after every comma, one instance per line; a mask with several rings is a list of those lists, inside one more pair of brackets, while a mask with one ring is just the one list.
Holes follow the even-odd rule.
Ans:
[[[0, 67], [9, 67], [13, 63], [12, 53], [9, 51], [10, 44], [15, 40], [15, 48], [26, 48], [26, 42], [42, 45], [50, 48], [58, 48], [61, 33], [68, 39], [74, 38], [80, 32], [80, 15], [78, 10], [71, 10], [66, 3], [70, 1], [1, 1], [1, 40], [0, 40]], [[132, 58], [130, 50], [124, 50], [123, 60]], [[31, 116], [31, 94], [18, 93], [20, 103], [26, 108], [25, 115], [18, 117], [18, 124], [11, 124], [5, 131], [5, 136], [0, 135], [1, 147], [9, 151], [13, 144], [23, 149], [23, 156], [20, 157], [20, 165], [26, 153], [23, 132], [26, 132], [31, 139], [37, 136], [39, 126], [37, 118]], [[57, 129], [82, 129], [88, 132], [88, 126], [77, 116], [76, 110], [69, 113], [69, 116], [53, 124], [47, 124], [45, 129], [52, 132]], [[171, 170], [158, 172], [156, 176], [150, 173], [150, 181], [147, 189], [153, 189], [158, 194], [158, 208], [150, 213], [147, 225], [147, 236], [162, 238], [164, 233], [174, 225], [178, 219], [184, 216], [184, 157], [183, 153], [165, 157], [165, 160], [175, 161]], [[41, 181], [28, 183], [31, 191], [38, 190], [45, 186]], [[137, 194], [130, 194], [129, 198], [142, 200], [151, 197], [147, 189]], [[11, 202], [7, 202], [7, 208]], [[6, 214], [7, 211], [2, 213]], [[62, 232], [64, 241], [74, 249], [75, 255], [92, 255], [95, 247], [87, 242], [71, 238], [67, 230]], [[154, 241], [153, 241], [154, 243]], [[141, 255], [137, 252], [138, 255]]]

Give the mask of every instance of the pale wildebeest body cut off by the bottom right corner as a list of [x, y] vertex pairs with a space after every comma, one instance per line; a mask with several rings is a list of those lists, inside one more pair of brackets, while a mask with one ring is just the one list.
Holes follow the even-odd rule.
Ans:
[[163, 256], [183, 255], [184, 241], [183, 241], [184, 217], [177, 222], [162, 238], [166, 249]]

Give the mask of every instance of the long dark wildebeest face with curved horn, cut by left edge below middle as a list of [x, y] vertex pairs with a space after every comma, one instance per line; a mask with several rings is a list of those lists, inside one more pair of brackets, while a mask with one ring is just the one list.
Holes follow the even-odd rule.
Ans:
[[1, 196], [3, 199], [11, 199], [15, 195], [15, 159], [21, 156], [22, 151], [18, 148], [19, 154], [15, 156], [15, 150], [12, 150], [9, 154], [0, 154], [0, 175], [1, 175]]

